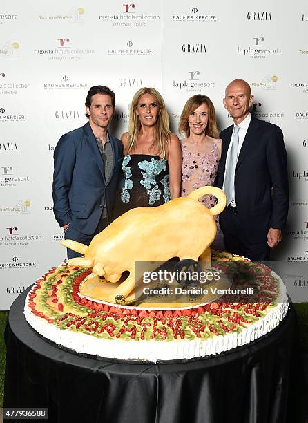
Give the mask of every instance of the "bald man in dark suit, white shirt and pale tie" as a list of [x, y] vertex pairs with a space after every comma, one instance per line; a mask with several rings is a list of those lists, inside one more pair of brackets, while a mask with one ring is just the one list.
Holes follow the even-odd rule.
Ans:
[[264, 261], [287, 221], [287, 153], [281, 129], [251, 116], [252, 102], [247, 82], [235, 79], [227, 86], [224, 107], [234, 125], [220, 134], [216, 183], [227, 195], [220, 215], [226, 251]]

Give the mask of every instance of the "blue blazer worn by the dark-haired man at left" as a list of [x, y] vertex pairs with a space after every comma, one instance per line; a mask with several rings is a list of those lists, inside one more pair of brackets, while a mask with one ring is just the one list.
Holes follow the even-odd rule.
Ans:
[[62, 135], [57, 143], [52, 197], [60, 227], [70, 223], [78, 232], [92, 235], [105, 203], [108, 220], [111, 220], [124, 149], [121, 141], [110, 133], [108, 137], [113, 149], [113, 171], [107, 181], [104, 162], [89, 123]]

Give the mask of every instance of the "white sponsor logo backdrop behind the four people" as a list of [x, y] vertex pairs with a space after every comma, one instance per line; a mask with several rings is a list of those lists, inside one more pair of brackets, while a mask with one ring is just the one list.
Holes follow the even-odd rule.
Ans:
[[87, 122], [86, 94], [98, 84], [115, 91], [120, 137], [142, 86], [162, 93], [177, 133], [184, 103], [198, 93], [213, 100], [220, 129], [229, 126], [224, 88], [246, 79], [253, 113], [282, 128], [289, 158], [289, 223], [274, 255], [308, 260], [307, 2], [125, 1], [1, 6], [2, 310], [66, 259], [52, 212], [52, 154], [63, 133]]

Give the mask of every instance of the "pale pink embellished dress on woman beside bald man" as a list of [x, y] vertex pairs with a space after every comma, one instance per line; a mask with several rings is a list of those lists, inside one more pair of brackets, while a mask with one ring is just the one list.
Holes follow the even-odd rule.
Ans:
[[[182, 188], [181, 196], [188, 196], [191, 191], [197, 188], [204, 187], [204, 185], [213, 185], [218, 171], [218, 165], [220, 162], [220, 153], [218, 150], [218, 144], [221, 140], [215, 140], [208, 138], [209, 142], [204, 144], [204, 149], [181, 140], [182, 147]], [[217, 201], [216, 198], [210, 195], [206, 195], [200, 198], [200, 202], [205, 207], [210, 209]], [[215, 217], [218, 223], [218, 216]], [[215, 241], [212, 244], [213, 248], [218, 250], [224, 250], [223, 237], [220, 231], [218, 223], [218, 232]]]

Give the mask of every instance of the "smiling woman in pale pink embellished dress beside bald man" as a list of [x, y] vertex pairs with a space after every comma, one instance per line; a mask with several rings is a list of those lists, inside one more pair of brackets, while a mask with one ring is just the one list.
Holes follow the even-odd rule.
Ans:
[[[182, 147], [182, 189], [186, 197], [199, 187], [213, 185], [220, 162], [221, 140], [216, 122], [213, 103], [206, 95], [193, 95], [187, 100], [180, 117], [179, 132], [185, 135]], [[213, 196], [200, 199], [208, 209], [216, 204]], [[218, 218], [216, 218], [218, 222]], [[213, 248], [223, 250], [223, 237], [218, 224], [218, 232]]]

